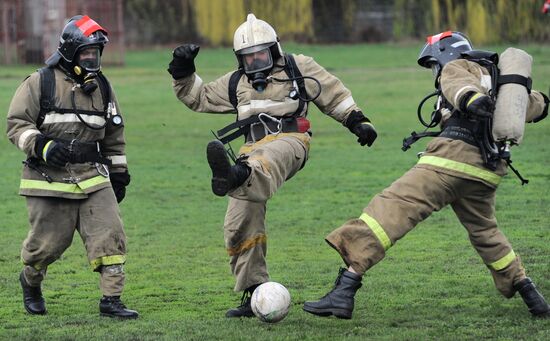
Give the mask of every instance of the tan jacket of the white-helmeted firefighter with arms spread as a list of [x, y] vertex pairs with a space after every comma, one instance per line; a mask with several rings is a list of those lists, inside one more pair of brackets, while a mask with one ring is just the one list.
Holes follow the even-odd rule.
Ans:
[[[317, 64], [313, 58], [304, 55], [293, 55], [296, 65], [303, 76], [311, 76], [321, 83], [321, 94], [313, 101], [325, 114], [336, 121], [345, 124], [348, 115], [353, 110], [360, 110], [351, 96], [351, 92], [334, 75]], [[287, 79], [284, 71], [284, 59], [279, 58], [270, 76]], [[195, 73], [189, 77], [175, 80], [174, 91], [176, 96], [189, 108], [198, 112], [234, 113], [235, 109], [229, 101], [228, 88], [230, 72], [213, 82], [204, 84]], [[308, 97], [313, 97], [319, 91], [317, 84], [309, 79], [305, 80]], [[293, 82], [279, 82], [272, 80], [266, 89], [259, 93], [243, 75], [237, 85], [238, 120], [265, 112], [271, 116], [293, 114], [298, 109], [299, 101], [289, 97], [295, 87]], [[302, 94], [304, 96], [304, 94]], [[300, 116], [307, 115], [307, 104]]]

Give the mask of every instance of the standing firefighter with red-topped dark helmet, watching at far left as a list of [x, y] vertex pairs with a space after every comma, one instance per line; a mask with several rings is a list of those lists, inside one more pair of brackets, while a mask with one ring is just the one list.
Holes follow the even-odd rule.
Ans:
[[27, 155], [19, 193], [31, 230], [20, 274], [25, 309], [45, 314], [41, 282], [70, 246], [75, 229], [100, 274], [102, 316], [136, 318], [120, 300], [126, 237], [117, 202], [130, 182], [124, 124], [101, 73], [107, 31], [88, 16], [71, 18], [46, 67], [17, 89], [7, 116], [10, 141]]

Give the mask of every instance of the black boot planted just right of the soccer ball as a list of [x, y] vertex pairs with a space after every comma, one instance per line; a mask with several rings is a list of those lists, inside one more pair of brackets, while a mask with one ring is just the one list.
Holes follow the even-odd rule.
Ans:
[[361, 276], [344, 268], [340, 269], [334, 288], [319, 301], [304, 303], [304, 310], [318, 316], [334, 315], [350, 319], [353, 313], [355, 293], [361, 287]]

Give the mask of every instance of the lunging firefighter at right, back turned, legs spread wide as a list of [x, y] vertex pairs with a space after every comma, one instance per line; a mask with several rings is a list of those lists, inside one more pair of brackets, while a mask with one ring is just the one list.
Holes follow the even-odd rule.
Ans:
[[[325, 238], [347, 269], [340, 270], [327, 295], [304, 303], [306, 312], [351, 318], [362, 275], [418, 223], [451, 205], [498, 291], [506, 298], [519, 292], [533, 315], [549, 315], [549, 305], [497, 227], [495, 192], [506, 174], [506, 162], [501, 159], [494, 169], [487, 167], [472, 130], [477, 121], [492, 115], [494, 103], [488, 70], [460, 58], [470, 52], [474, 51], [469, 40], [459, 32], [428, 38], [418, 62], [434, 70], [441, 86], [442, 109], [451, 114], [443, 118], [442, 132], [430, 141], [412, 169], [376, 195], [359, 219], [346, 222]], [[538, 91], [529, 95], [523, 91], [528, 96], [526, 121], [540, 121], [548, 114], [548, 98]]]

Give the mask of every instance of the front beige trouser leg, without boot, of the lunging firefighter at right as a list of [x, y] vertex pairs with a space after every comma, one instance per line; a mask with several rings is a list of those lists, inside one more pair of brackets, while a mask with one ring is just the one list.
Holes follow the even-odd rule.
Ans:
[[461, 181], [432, 170], [412, 168], [377, 194], [359, 219], [346, 222], [326, 241], [347, 266], [363, 274], [419, 222], [455, 200], [455, 187]]

